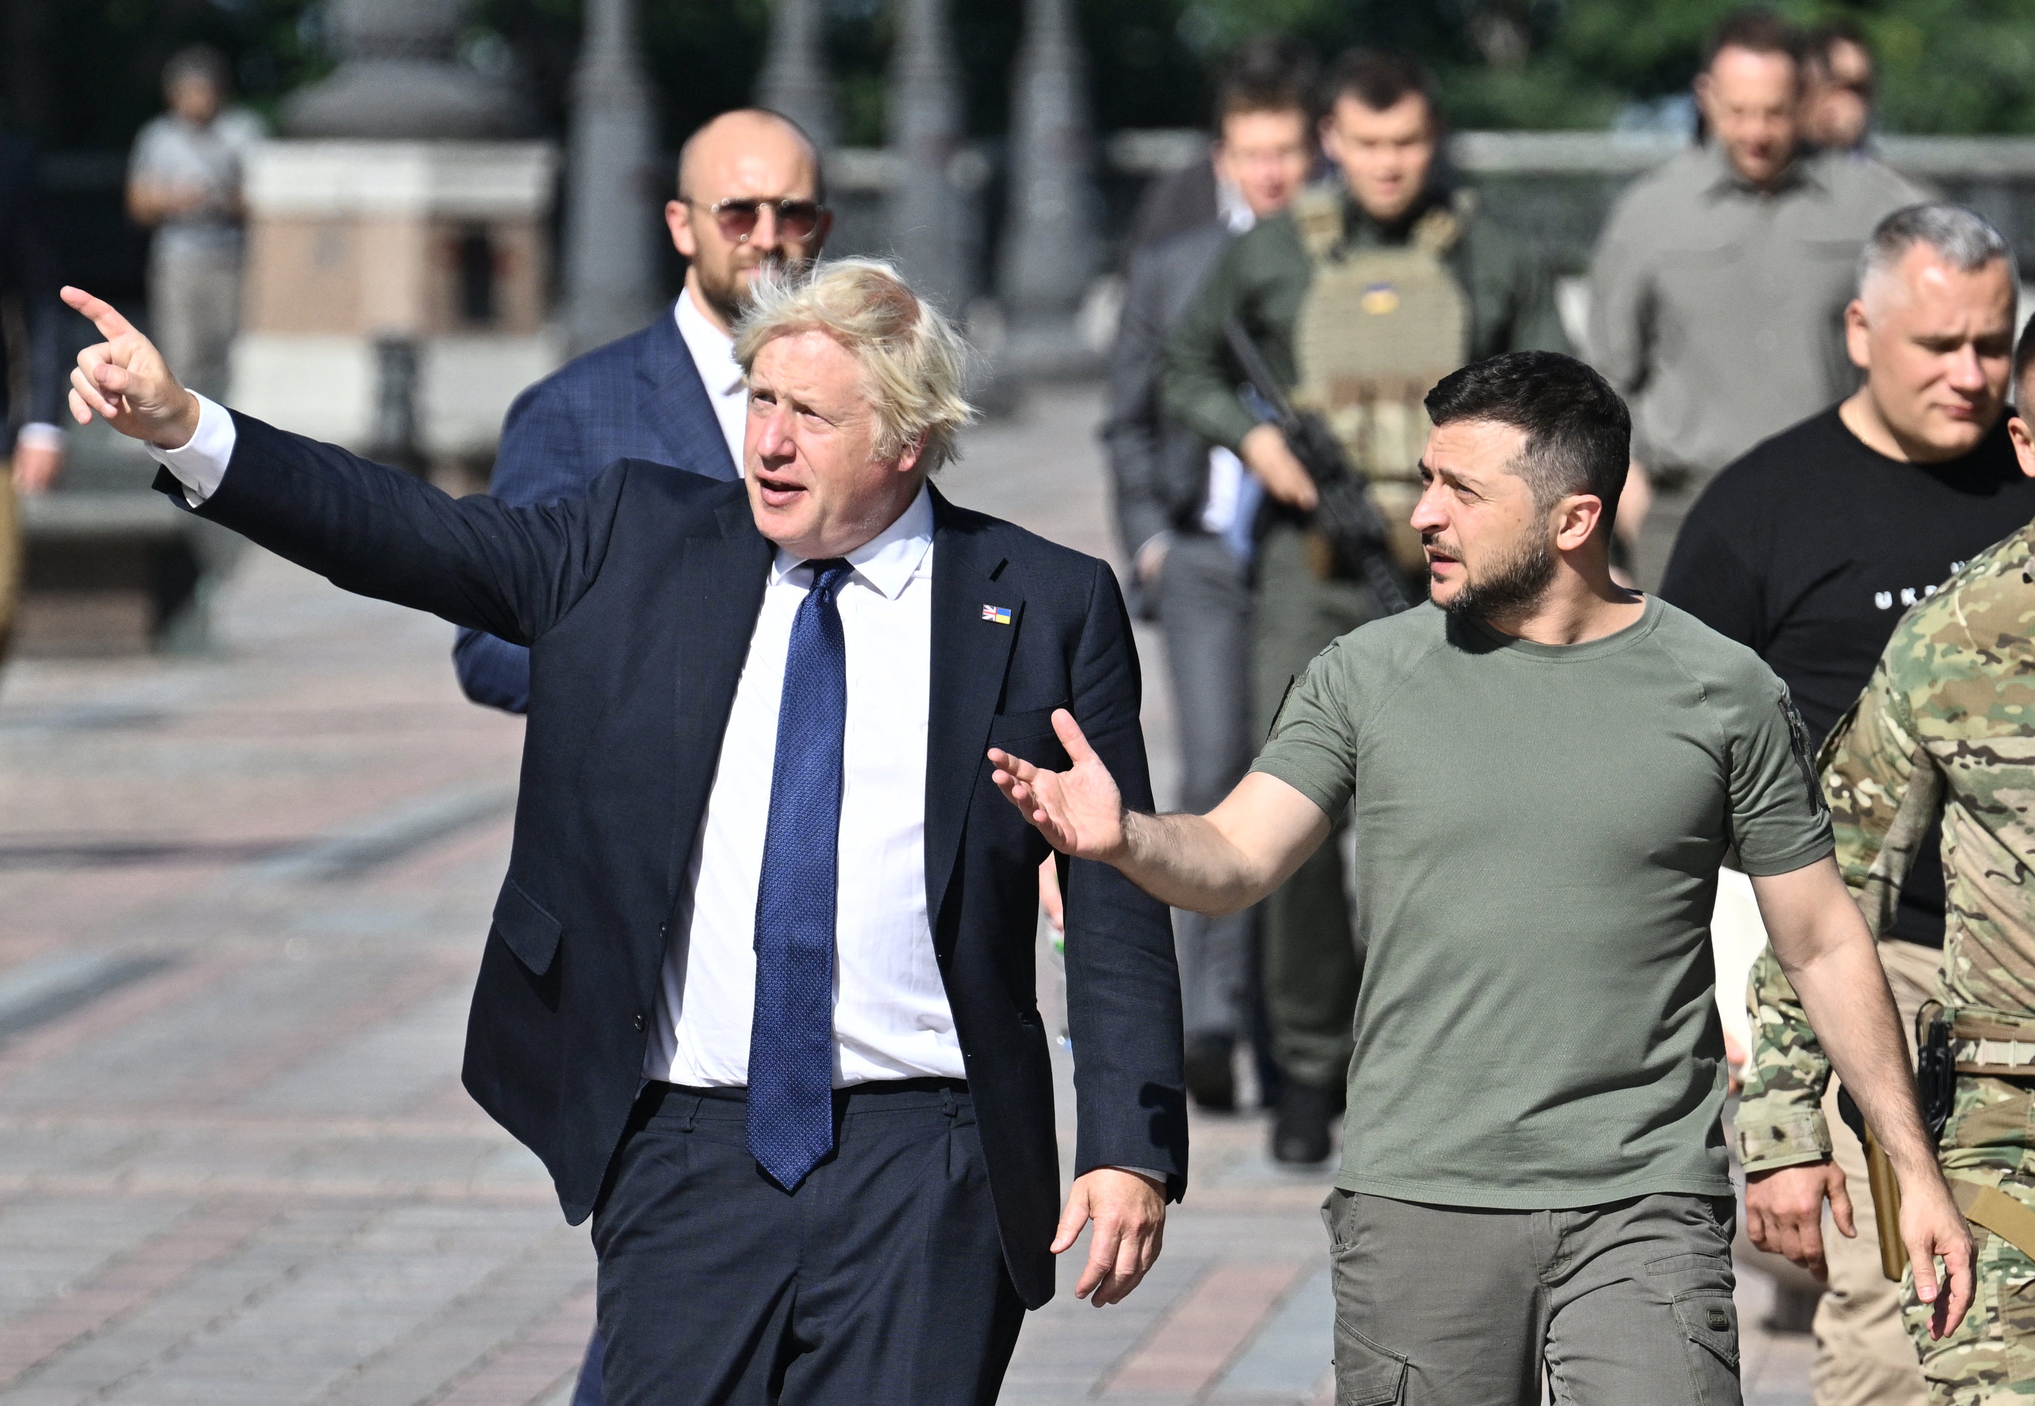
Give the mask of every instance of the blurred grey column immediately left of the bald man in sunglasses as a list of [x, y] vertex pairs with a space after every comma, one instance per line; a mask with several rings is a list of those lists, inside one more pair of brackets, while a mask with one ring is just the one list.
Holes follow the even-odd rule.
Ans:
[[635, 0], [586, 0], [572, 75], [566, 187], [566, 328], [574, 352], [635, 332], [657, 307], [651, 90], [637, 55]]

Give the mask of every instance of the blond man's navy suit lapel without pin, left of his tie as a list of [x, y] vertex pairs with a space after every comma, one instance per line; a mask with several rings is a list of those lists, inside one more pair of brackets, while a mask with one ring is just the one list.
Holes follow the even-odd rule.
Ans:
[[724, 503], [718, 537], [684, 537], [678, 555], [678, 828], [672, 834], [670, 891], [692, 855], [706, 794], [720, 761], [720, 737], [735, 706], [735, 686], [749, 659], [749, 637], [775, 549], [755, 529], [749, 501]]

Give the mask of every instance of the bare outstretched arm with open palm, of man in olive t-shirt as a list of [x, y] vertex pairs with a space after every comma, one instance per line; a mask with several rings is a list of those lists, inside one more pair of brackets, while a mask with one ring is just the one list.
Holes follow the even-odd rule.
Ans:
[[1052, 730], [1072, 767], [1046, 771], [991, 747], [997, 789], [1056, 851], [1111, 865], [1172, 907], [1197, 914], [1249, 907], [1329, 838], [1329, 816], [1262, 771], [1243, 777], [1207, 816], [1129, 810], [1074, 714], [1054, 712]]

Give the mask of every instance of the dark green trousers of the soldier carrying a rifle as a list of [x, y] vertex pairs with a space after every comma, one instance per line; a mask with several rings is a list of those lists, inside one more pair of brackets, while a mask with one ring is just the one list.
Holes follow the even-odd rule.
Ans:
[[[1274, 523], [1258, 545], [1256, 735], [1272, 726], [1286, 686], [1309, 661], [1374, 614], [1372, 592], [1321, 580], [1306, 564], [1306, 533]], [[1335, 830], [1264, 901], [1264, 989], [1272, 1054], [1288, 1078], [1341, 1089], [1355, 1048], [1351, 1021], [1363, 958], [1343, 887], [1343, 830]]]

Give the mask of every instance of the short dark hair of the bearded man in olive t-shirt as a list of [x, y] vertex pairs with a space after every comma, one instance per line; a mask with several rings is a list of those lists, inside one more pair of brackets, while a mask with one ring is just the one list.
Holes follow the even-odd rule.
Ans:
[[1538, 507], [1571, 492], [1604, 501], [1604, 529], [1632, 462], [1632, 413], [1612, 383], [1561, 352], [1504, 352], [1453, 370], [1427, 393], [1435, 425], [1484, 419], [1526, 433], [1512, 468]]

